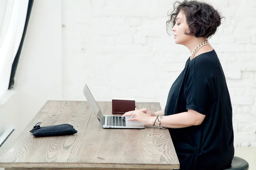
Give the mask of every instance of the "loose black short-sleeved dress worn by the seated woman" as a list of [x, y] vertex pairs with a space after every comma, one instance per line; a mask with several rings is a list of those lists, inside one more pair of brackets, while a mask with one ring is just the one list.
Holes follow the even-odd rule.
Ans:
[[173, 83], [165, 116], [192, 109], [206, 115], [201, 125], [169, 128], [180, 170], [222, 170], [234, 156], [232, 106], [215, 50], [190, 61]]

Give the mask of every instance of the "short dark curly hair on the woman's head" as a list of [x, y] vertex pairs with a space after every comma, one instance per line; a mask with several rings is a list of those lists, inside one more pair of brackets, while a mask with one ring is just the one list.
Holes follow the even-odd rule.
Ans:
[[[176, 6], [177, 3], [178, 6]], [[221, 25], [221, 19], [224, 18], [221, 17], [221, 14], [211, 5], [196, 0], [184, 0], [182, 3], [177, 1], [173, 6], [174, 9], [172, 13], [168, 14], [170, 18], [166, 21], [167, 32], [170, 23], [172, 23], [172, 27], [175, 26], [175, 19], [180, 11], [184, 12], [187, 24], [189, 25], [189, 33], [185, 32], [184, 34], [195, 36], [197, 38], [206, 37], [208, 39], [209, 37], [212, 37], [218, 26]]]

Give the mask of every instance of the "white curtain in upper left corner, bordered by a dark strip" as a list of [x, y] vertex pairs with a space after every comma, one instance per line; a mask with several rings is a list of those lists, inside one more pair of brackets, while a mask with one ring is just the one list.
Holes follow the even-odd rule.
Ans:
[[29, 0], [0, 0], [0, 99], [8, 90], [12, 62], [20, 45]]

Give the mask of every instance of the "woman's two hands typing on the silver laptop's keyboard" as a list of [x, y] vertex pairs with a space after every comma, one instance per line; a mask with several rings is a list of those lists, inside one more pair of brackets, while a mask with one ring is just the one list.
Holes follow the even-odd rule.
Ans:
[[135, 111], [129, 111], [123, 114], [122, 117], [131, 116], [132, 118], [127, 119], [127, 121], [137, 121], [146, 126], [153, 125], [155, 118], [152, 116], [149, 116], [147, 113], [144, 113], [143, 111], [141, 111], [141, 109], [135, 110]]

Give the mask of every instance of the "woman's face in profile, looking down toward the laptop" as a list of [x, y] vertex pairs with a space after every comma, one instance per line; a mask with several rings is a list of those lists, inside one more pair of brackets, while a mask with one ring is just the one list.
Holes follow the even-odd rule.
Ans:
[[176, 44], [185, 45], [191, 38], [191, 35], [185, 35], [189, 33], [189, 25], [186, 22], [186, 16], [183, 11], [180, 11], [176, 17], [175, 26], [172, 27], [174, 39]]

